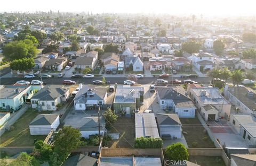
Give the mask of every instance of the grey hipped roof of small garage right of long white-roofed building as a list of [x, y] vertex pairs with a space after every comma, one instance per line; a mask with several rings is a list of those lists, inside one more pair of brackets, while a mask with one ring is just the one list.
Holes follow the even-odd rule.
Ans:
[[180, 119], [176, 113], [157, 113], [158, 125], [181, 126]]

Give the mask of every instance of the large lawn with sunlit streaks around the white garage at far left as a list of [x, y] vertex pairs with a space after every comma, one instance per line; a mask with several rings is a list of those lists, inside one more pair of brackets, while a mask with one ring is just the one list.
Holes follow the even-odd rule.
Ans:
[[27, 110], [0, 139], [0, 147], [5, 146], [34, 146], [34, 139], [44, 140], [46, 135], [32, 136], [29, 132], [29, 123], [39, 113], [51, 113], [52, 111], [38, 112], [32, 109]]

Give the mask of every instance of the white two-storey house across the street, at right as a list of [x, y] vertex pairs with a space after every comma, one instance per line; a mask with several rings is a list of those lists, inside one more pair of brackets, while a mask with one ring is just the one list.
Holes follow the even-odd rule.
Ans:
[[195, 53], [192, 55], [193, 64], [198, 71], [207, 71], [215, 67], [214, 56], [209, 53]]

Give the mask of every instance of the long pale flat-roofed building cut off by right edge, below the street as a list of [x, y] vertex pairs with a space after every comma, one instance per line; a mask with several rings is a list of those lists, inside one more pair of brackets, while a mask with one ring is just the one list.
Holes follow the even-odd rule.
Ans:
[[239, 108], [239, 111], [251, 114], [256, 110], [256, 92], [251, 88], [226, 85], [224, 93], [228, 101]]

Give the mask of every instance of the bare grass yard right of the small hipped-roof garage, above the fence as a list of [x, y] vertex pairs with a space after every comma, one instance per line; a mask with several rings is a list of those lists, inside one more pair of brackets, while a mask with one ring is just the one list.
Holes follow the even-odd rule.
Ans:
[[180, 118], [183, 134], [186, 138], [188, 147], [215, 147], [214, 143], [207, 133], [204, 132], [204, 127], [200, 121], [195, 118]]

